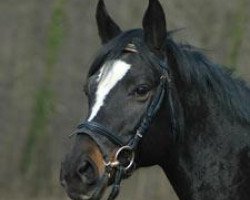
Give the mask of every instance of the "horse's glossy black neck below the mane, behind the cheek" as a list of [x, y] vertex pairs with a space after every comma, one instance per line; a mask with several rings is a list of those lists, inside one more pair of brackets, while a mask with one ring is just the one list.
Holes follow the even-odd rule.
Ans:
[[185, 133], [162, 164], [180, 200], [249, 200], [249, 130], [232, 123], [212, 98], [189, 93], [182, 100]]

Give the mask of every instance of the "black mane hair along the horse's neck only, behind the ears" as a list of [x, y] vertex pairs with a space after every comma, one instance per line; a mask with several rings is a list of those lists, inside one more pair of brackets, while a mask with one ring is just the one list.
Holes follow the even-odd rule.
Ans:
[[175, 57], [180, 78], [200, 94], [212, 94], [233, 118], [250, 124], [250, 89], [234, 78], [233, 71], [213, 63], [201, 50], [167, 40], [166, 48]]

